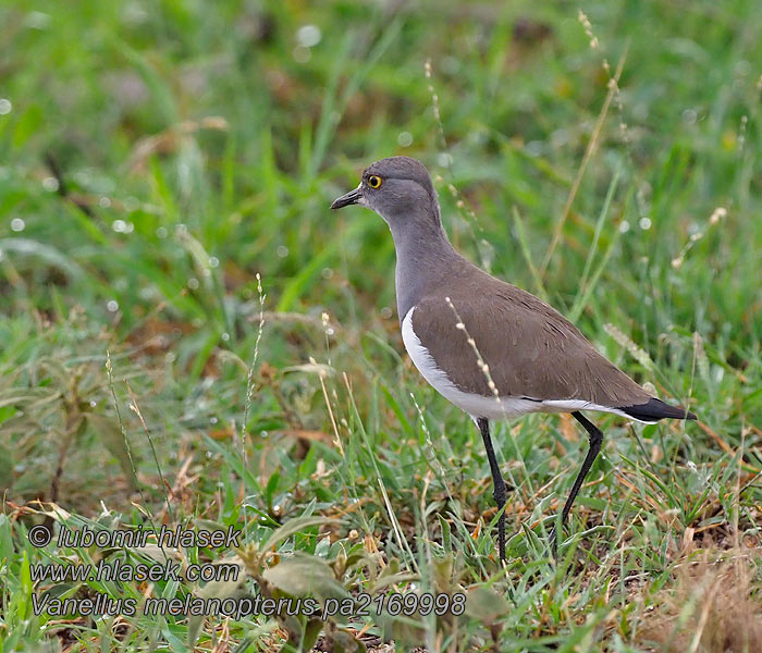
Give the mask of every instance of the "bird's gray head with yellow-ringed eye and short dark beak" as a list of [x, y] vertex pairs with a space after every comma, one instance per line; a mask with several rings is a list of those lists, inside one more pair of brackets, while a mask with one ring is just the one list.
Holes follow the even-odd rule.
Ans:
[[410, 222], [422, 227], [441, 226], [429, 172], [410, 157], [390, 157], [368, 165], [359, 186], [335, 199], [331, 208], [349, 205], [372, 209], [389, 223], [392, 232]]

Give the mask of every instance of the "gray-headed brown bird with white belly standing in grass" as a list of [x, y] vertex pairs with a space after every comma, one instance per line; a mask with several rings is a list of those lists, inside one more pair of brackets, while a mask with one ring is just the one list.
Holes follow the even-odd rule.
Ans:
[[[652, 396], [610, 362], [557, 310], [458, 254], [442, 225], [426, 167], [411, 157], [368, 165], [359, 185], [331, 204], [371, 209], [389, 225], [396, 250], [395, 291], [405, 349], [426, 381], [468, 414], [483, 440], [497, 505], [497, 551], [505, 556], [506, 484], [490, 422], [531, 412], [570, 412], [588, 451], [556, 520], [564, 527], [603, 432], [582, 411], [644, 423], [696, 415]], [[557, 558], [556, 527], [549, 543]]]

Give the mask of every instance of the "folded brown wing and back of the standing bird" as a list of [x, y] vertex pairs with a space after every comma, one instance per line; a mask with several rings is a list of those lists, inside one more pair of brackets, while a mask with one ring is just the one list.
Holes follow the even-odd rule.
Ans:
[[447, 296], [488, 364], [501, 396], [583, 399], [607, 407], [651, 399], [572, 322], [534, 295], [476, 268], [451, 289], [430, 293], [417, 305], [413, 329], [464, 392], [492, 394], [466, 334], [456, 328]]

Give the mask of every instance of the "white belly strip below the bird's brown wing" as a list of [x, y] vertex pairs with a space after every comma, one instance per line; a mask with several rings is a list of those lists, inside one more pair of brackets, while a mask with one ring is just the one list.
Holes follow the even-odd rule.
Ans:
[[[617, 408], [599, 406], [583, 399], [527, 399], [524, 397], [488, 397], [484, 395], [463, 392], [447, 377], [444, 370], [437, 367], [437, 362], [429, 350], [421, 344], [420, 338], [413, 330], [414, 306], [402, 321], [402, 341], [410, 356], [413, 364], [429, 384], [445, 399], [455, 404], [474, 418], [486, 417], [488, 419], [509, 419], [529, 412], [573, 412], [574, 410], [598, 410], [613, 412], [627, 419], [629, 415]], [[476, 356], [474, 358], [476, 368]], [[640, 420], [635, 420], [640, 421]], [[649, 423], [649, 422], [644, 422]]]

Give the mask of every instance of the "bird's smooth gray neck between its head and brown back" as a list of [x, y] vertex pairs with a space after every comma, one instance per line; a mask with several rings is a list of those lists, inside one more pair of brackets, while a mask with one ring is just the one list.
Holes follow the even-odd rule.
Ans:
[[397, 315], [405, 318], [427, 293], [438, 287], [460, 260], [442, 229], [439, 207], [429, 207], [388, 221], [397, 252], [395, 285]]

